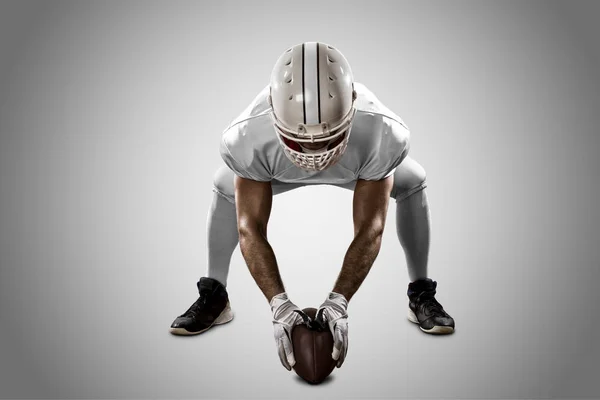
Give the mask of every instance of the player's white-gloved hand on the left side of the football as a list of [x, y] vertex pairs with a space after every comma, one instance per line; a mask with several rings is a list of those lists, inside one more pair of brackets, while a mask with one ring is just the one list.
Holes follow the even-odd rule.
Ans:
[[294, 348], [292, 347], [292, 329], [304, 322], [301, 315], [302, 310], [288, 299], [285, 292], [273, 296], [270, 305], [273, 313], [273, 330], [277, 353], [281, 364], [285, 369], [291, 371], [294, 364], [296, 364]]

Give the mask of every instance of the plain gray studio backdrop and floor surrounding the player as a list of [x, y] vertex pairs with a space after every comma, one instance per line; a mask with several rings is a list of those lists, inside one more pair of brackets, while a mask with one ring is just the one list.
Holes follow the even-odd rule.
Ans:
[[[0, 3], [0, 396], [595, 397], [598, 2]], [[168, 333], [197, 297], [220, 134], [281, 52], [337, 46], [412, 131], [450, 337], [406, 320], [388, 225], [319, 387], [277, 359], [236, 249], [236, 318]], [[334, 207], [298, 212], [311, 196]], [[349, 191], [276, 198], [292, 299], [316, 306], [352, 239]], [[294, 226], [294, 229], [290, 229]]]

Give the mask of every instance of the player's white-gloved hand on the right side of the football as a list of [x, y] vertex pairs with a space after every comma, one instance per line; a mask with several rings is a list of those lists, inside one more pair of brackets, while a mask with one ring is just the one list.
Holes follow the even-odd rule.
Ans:
[[331, 292], [317, 310], [317, 317], [323, 315], [323, 320], [329, 325], [333, 334], [333, 353], [331, 357], [337, 360], [336, 367], [341, 367], [348, 353], [348, 300], [344, 295]]

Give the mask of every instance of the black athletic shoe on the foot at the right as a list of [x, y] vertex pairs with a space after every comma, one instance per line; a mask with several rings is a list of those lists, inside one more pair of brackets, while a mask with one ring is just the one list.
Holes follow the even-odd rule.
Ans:
[[419, 279], [408, 285], [408, 320], [426, 333], [448, 334], [454, 332], [454, 318], [435, 299], [437, 282]]

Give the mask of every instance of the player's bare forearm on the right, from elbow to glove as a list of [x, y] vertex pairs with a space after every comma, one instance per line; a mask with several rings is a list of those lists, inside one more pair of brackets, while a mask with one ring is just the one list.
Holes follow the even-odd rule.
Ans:
[[363, 283], [381, 248], [381, 233], [357, 235], [344, 257], [342, 269], [333, 291], [350, 301]]

